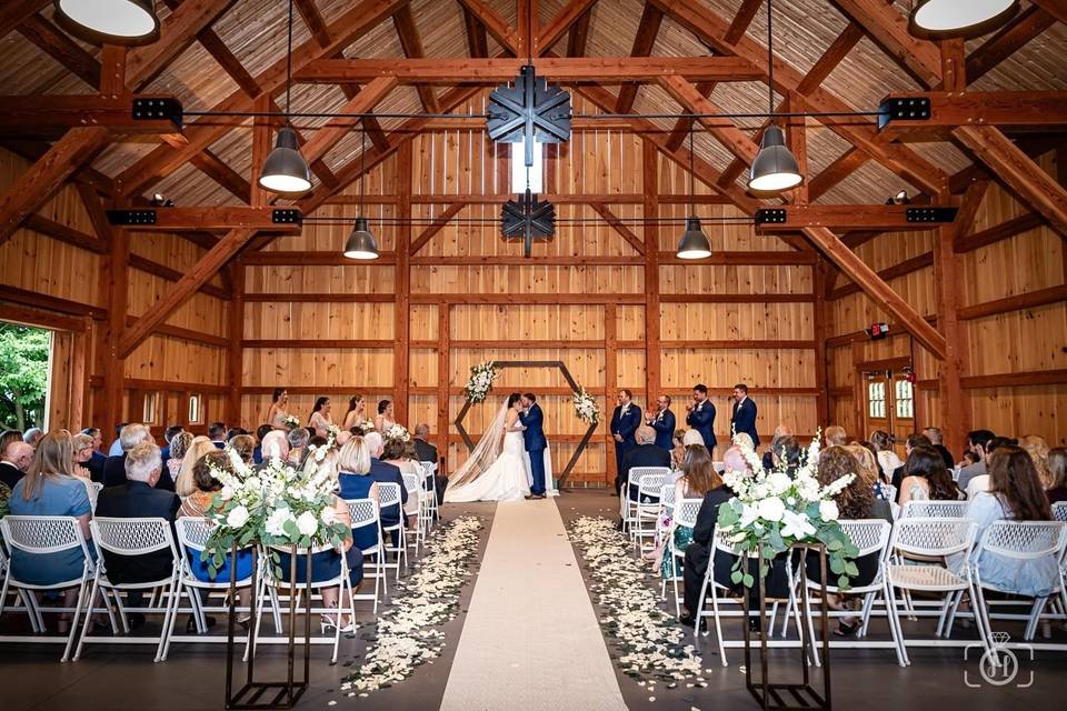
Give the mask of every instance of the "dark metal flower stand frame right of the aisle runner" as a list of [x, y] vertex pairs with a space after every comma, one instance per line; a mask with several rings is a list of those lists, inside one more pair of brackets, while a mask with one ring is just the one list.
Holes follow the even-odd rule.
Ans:
[[808, 551], [818, 553], [819, 570], [822, 581], [822, 602], [820, 605], [819, 624], [822, 630], [822, 684], [821, 690], [812, 685], [811, 670], [808, 668], [808, 659], [812, 658], [815, 640], [810, 637], [810, 625], [808, 617], [810, 614], [808, 607], [808, 588], [800, 585], [800, 597], [797, 601], [800, 611], [800, 669], [802, 673], [801, 682], [772, 682], [768, 673], [767, 655], [767, 589], [762, 575], [757, 574], [759, 580], [759, 640], [755, 641], [759, 652], [757, 664], [752, 664], [754, 640], [749, 632], [749, 595], [748, 589], [745, 589], [745, 685], [749, 693], [756, 699], [765, 711], [781, 709], [831, 709], [830, 703], [830, 639], [829, 639], [829, 613], [826, 602], [826, 548], [822, 545], [795, 545], [787, 557], [786, 564], [789, 564], [797, 552], [800, 560], [799, 574], [804, 575], [804, 560]]

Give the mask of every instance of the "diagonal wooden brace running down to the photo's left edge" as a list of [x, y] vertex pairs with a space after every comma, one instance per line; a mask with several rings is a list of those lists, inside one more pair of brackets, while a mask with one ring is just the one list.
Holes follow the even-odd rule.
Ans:
[[40, 160], [19, 176], [0, 197], [0, 244], [14, 233], [22, 220], [48, 202], [63, 182], [89, 162], [107, 142], [107, 129], [71, 129]]

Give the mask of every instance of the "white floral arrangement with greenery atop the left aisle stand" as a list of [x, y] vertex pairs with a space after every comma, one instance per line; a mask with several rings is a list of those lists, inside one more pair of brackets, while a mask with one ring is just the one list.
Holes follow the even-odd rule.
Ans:
[[[329, 445], [311, 448], [302, 468], [283, 462], [275, 452], [259, 469], [246, 464], [229, 451], [229, 467], [211, 467], [222, 483], [207, 517], [216, 527], [200, 554], [215, 574], [237, 545], [298, 545], [339, 548], [348, 527], [333, 510], [337, 481], [330, 467], [322, 467]], [[275, 573], [281, 575], [279, 558], [271, 551]]]

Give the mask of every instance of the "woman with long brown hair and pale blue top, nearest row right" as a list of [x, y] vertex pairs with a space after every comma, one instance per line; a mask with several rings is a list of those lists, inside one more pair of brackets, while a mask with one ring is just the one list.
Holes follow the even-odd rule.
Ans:
[[[995, 521], [1050, 521], [1053, 512], [1041, 491], [1034, 461], [1019, 447], [997, 448], [986, 462], [989, 490], [975, 495], [967, 507], [967, 518], [978, 523], [981, 535]], [[947, 559], [948, 567], [959, 571], [964, 555], [955, 553]], [[1059, 563], [1053, 555], [1020, 560], [996, 553], [981, 553], [971, 560], [971, 570], [978, 571], [983, 583], [1017, 594], [1045, 597], [1060, 584]]]

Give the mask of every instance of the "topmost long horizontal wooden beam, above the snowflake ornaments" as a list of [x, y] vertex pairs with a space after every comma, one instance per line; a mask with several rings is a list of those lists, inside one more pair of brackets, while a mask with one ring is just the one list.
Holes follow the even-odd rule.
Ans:
[[[305, 83], [365, 83], [396, 77], [400, 83], [486, 83], [515, 79], [525, 59], [319, 59], [293, 71]], [[751, 81], [762, 70], [736, 57], [541, 57], [534, 59], [539, 77], [557, 82], [657, 81], [677, 74], [694, 80]]]

